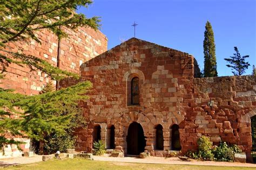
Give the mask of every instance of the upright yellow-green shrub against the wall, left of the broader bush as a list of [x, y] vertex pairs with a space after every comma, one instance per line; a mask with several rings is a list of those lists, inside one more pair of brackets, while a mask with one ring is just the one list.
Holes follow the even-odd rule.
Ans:
[[213, 160], [213, 153], [211, 151], [212, 142], [210, 138], [202, 136], [197, 141], [198, 144], [198, 157], [203, 160]]

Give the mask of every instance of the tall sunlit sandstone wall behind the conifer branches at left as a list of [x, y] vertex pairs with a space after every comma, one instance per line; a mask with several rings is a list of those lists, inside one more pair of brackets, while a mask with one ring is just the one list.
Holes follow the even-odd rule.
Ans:
[[[79, 27], [75, 31], [65, 29], [65, 31], [69, 37], [63, 38], [60, 44], [60, 68], [63, 70], [79, 73], [79, 67], [82, 63], [107, 50], [107, 39], [100, 31], [95, 31], [90, 27]], [[34, 55], [57, 66], [57, 37], [48, 30], [38, 32], [37, 37], [41, 40], [41, 44], [30, 40], [28, 42], [15, 42], [6, 48], [15, 52], [21, 48], [26, 55]], [[2, 69], [1, 66], [0, 69]], [[15, 89], [17, 93], [32, 95], [38, 94], [49, 81], [49, 77], [41, 71], [31, 71], [26, 66], [21, 67], [12, 63], [7, 67], [5, 79], [0, 79], [0, 87]]]

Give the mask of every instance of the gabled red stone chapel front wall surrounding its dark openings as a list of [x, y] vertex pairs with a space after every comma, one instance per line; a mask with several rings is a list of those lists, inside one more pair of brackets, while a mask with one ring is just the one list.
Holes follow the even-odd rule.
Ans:
[[[193, 56], [132, 38], [112, 48], [80, 67], [83, 79], [93, 83], [90, 100], [84, 103], [89, 117], [89, 130], [77, 131], [77, 150], [91, 151], [93, 126], [101, 127], [101, 138], [106, 141], [107, 128], [115, 127], [115, 144], [126, 152], [129, 125], [138, 122], [146, 137], [146, 149], [154, 153], [156, 126], [163, 126], [164, 149], [170, 150], [170, 127], [183, 121], [180, 110], [183, 91], [193, 77]], [[139, 77], [139, 105], [129, 103], [130, 81]], [[74, 80], [60, 83], [71, 86]], [[162, 154], [163, 156], [163, 154]]]

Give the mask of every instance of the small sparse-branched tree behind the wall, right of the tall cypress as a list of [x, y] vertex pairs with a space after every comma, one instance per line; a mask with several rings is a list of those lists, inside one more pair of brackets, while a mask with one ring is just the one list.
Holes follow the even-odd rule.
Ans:
[[250, 63], [245, 62], [245, 58], [248, 58], [249, 55], [241, 56], [237, 47], [234, 47], [234, 51], [234, 56], [230, 56], [230, 59], [226, 58], [224, 60], [230, 63], [230, 65], [226, 66], [232, 68], [234, 75], [242, 75], [248, 66], [250, 66]]

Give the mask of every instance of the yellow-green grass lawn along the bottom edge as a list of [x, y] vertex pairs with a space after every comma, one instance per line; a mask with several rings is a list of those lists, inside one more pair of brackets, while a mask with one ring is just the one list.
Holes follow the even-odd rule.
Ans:
[[163, 165], [163, 164], [139, 164], [125, 162], [90, 161], [85, 159], [49, 160], [35, 164], [9, 166], [3, 169], [254, 169], [255, 167], [221, 167], [221, 166], [196, 166], [196, 165]]

